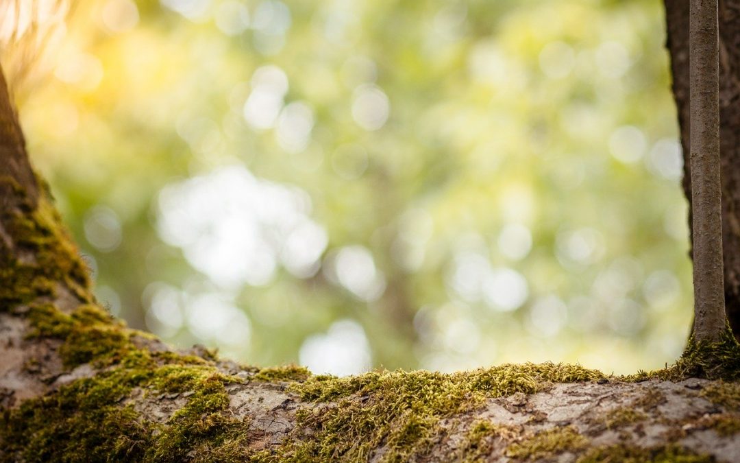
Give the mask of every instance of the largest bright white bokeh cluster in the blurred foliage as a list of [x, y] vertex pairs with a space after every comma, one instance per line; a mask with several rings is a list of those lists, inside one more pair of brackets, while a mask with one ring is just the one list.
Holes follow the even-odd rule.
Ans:
[[256, 179], [244, 167], [170, 184], [158, 206], [161, 238], [221, 287], [268, 284], [280, 264], [310, 276], [328, 242], [309, 218], [303, 190]]

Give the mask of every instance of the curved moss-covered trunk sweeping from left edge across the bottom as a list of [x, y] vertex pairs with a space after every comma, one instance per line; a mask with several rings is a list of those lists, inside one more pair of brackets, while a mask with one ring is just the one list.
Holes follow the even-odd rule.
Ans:
[[[736, 461], [740, 384], [691, 365], [564, 364], [337, 379], [130, 330], [27, 159], [0, 81], [0, 461]], [[726, 375], [733, 379], [739, 370]]]

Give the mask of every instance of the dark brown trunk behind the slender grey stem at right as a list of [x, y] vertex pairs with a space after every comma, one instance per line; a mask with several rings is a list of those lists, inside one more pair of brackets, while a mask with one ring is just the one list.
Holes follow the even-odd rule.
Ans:
[[[691, 200], [689, 1], [665, 0], [673, 96], [684, 152], [684, 193]], [[724, 299], [740, 337], [740, 0], [719, 0], [719, 152]], [[691, 217], [692, 214], [689, 215]], [[693, 224], [690, 221], [690, 228]], [[693, 241], [693, 240], [692, 240]]]

